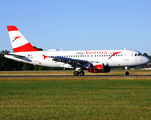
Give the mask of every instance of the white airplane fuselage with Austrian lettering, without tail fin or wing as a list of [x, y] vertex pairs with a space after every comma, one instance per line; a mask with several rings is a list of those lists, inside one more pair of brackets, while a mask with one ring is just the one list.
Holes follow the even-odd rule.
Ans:
[[150, 61], [140, 52], [134, 50], [34, 51], [15, 52], [11, 54], [26, 56], [28, 61], [10, 55], [5, 55], [5, 57], [34, 65], [63, 68], [72, 68], [72, 66], [68, 63], [54, 61], [53, 57], [60, 56], [77, 60], [86, 60], [90, 63], [98, 62], [109, 67], [138, 66], [144, 65]]

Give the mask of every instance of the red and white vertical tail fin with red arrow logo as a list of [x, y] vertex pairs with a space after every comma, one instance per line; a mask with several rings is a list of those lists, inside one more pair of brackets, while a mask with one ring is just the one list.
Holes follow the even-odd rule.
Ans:
[[14, 52], [38, 51], [26, 40], [15, 26], [7, 26], [7, 29]]

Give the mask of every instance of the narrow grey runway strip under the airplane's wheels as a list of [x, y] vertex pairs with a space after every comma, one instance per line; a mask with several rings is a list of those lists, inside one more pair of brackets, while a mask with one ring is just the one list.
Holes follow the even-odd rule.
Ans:
[[0, 78], [103, 78], [103, 77], [151, 77], [151, 75], [85, 75], [85, 76], [73, 76], [73, 75], [2, 75]]

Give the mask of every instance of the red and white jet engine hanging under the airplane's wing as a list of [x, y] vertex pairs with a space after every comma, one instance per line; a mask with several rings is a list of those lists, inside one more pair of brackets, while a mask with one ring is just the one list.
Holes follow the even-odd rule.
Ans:
[[94, 63], [88, 66], [88, 71], [94, 73], [110, 72], [110, 68], [108, 66], [104, 66], [103, 63]]

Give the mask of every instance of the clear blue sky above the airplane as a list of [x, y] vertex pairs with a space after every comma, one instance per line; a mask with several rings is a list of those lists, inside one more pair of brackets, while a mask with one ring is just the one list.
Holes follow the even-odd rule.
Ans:
[[0, 51], [7, 25], [44, 50], [131, 49], [151, 55], [151, 0], [0, 0]]

